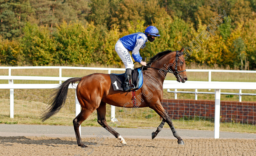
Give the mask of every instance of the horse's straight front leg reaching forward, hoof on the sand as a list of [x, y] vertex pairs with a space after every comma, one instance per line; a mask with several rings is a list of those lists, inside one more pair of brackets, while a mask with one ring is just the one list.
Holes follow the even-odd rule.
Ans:
[[174, 126], [172, 124], [171, 118], [165, 112], [165, 109], [163, 108], [161, 103], [159, 102], [159, 104], [155, 104], [155, 105], [151, 106], [150, 108], [152, 108], [158, 115], [160, 115], [167, 122], [167, 124], [169, 124], [169, 127], [172, 130], [173, 136], [178, 139], [178, 144], [184, 144], [184, 141], [182, 140], [182, 138], [180, 138], [179, 134], [177, 133], [176, 129], [174, 128]]

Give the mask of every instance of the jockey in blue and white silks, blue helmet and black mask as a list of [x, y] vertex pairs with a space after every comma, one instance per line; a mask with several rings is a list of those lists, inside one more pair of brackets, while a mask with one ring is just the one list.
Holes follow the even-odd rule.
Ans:
[[137, 32], [126, 35], [119, 38], [119, 40], [116, 42], [115, 50], [123, 61], [126, 69], [123, 86], [125, 91], [130, 91], [135, 88], [134, 85], [133, 87], [129, 86], [132, 68], [134, 67], [129, 51], [132, 51], [132, 57], [136, 62], [146, 66], [146, 62], [142, 61], [139, 50], [140, 48], [143, 49], [146, 46], [145, 43], [147, 41], [153, 42], [157, 36], [160, 36], [158, 29], [155, 26], [149, 26], [146, 28], [145, 33]]

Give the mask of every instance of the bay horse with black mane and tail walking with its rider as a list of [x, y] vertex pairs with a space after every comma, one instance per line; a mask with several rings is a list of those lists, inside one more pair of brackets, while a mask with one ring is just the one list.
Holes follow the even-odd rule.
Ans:
[[163, 124], [167, 122], [172, 130], [174, 137], [178, 139], [178, 144], [184, 144], [182, 138], [175, 130], [172, 120], [168, 116], [160, 101], [163, 99], [163, 82], [167, 72], [173, 73], [178, 82], [187, 81], [186, 64], [183, 55], [184, 48], [180, 51], [159, 52], [148, 62], [143, 69], [144, 83], [137, 93], [138, 105], [133, 105], [132, 92], [114, 91], [109, 74], [94, 73], [81, 78], [70, 78], [63, 82], [49, 102], [49, 108], [43, 112], [41, 119], [45, 121], [58, 111], [65, 104], [69, 84], [79, 81], [76, 87], [77, 99], [81, 105], [81, 112], [73, 120], [76, 134], [77, 145], [87, 147], [82, 141], [79, 133], [79, 126], [89, 115], [97, 110], [98, 123], [111, 134], [120, 140], [120, 143], [126, 144], [123, 137], [114, 131], [106, 122], [106, 103], [117, 107], [143, 108], [149, 107], [163, 118], [157, 131], [152, 133], [152, 139], [161, 131]]

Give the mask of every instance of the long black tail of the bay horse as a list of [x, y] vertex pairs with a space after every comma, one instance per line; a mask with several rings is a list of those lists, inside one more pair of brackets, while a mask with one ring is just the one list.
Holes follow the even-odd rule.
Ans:
[[72, 83], [73, 85], [75, 82], [80, 80], [81, 78], [69, 78], [57, 88], [57, 91], [51, 95], [54, 96], [49, 102], [49, 105], [51, 106], [42, 113], [41, 119], [43, 122], [50, 118], [52, 115], [57, 114], [60, 108], [63, 107], [67, 98], [69, 84]]

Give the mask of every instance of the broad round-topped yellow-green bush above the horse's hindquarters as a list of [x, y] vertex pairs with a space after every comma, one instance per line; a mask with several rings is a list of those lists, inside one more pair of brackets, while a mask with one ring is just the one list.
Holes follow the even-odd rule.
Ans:
[[93, 24], [84, 26], [77, 22], [68, 25], [63, 22], [57, 26], [57, 31], [54, 33], [58, 63], [90, 64], [93, 60], [92, 53], [98, 48], [99, 36]]

